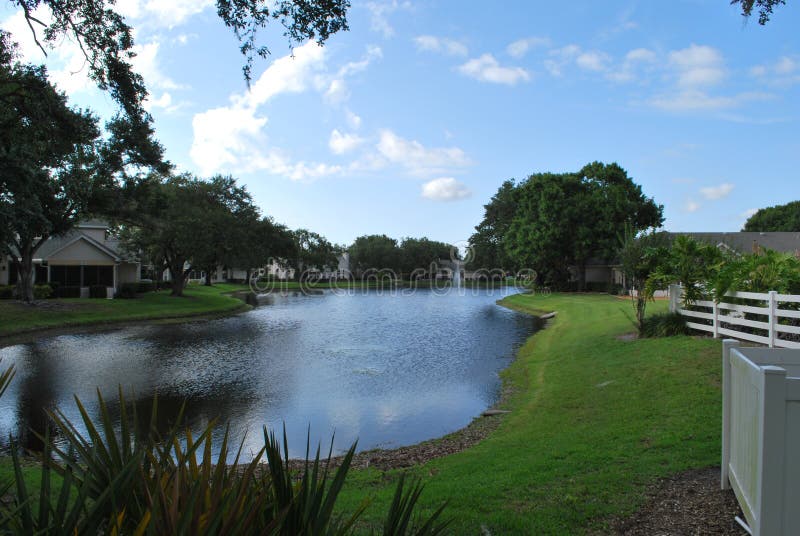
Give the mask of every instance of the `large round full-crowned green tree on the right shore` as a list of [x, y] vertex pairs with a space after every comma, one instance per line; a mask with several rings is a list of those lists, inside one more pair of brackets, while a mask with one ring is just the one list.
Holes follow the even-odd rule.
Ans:
[[589, 259], [611, 261], [626, 226], [638, 232], [663, 221], [663, 207], [617, 164], [539, 173], [517, 188], [517, 208], [503, 239], [506, 252], [551, 285], [564, 285], [574, 270], [583, 290]]

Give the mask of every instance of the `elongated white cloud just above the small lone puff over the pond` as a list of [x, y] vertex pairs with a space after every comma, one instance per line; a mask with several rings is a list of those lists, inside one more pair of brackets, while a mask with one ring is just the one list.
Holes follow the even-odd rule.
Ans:
[[388, 129], [380, 131], [376, 148], [383, 159], [417, 176], [463, 168], [472, 163], [458, 147], [427, 148], [416, 140], [401, 138]]

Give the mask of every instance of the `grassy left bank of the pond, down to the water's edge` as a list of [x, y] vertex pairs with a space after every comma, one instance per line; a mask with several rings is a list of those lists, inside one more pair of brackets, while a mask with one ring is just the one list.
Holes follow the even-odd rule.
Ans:
[[0, 301], [0, 348], [42, 336], [104, 331], [122, 325], [184, 322], [219, 318], [251, 308], [236, 294], [245, 285], [192, 285], [183, 298], [169, 291], [148, 292], [135, 299], [54, 299], [27, 305]]

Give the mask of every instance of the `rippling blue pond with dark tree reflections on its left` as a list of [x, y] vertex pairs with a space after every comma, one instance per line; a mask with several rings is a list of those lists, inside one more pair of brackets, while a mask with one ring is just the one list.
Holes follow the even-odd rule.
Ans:
[[[44, 409], [79, 422], [73, 395], [97, 414], [99, 391], [119, 386], [149, 415], [158, 394], [166, 426], [187, 401], [193, 429], [231, 425], [245, 453], [262, 426], [285, 423], [290, 454], [393, 448], [466, 426], [494, 404], [498, 373], [535, 319], [496, 305], [514, 290], [271, 294], [244, 314], [171, 325], [41, 338], [0, 349], [17, 376], [0, 399], [0, 434], [35, 447]], [[110, 404], [119, 414], [117, 404]], [[221, 434], [217, 432], [217, 437]]]

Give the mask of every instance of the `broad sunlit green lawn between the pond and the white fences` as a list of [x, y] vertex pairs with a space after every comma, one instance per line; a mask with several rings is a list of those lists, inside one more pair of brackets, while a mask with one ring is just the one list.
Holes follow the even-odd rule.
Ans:
[[[625, 341], [629, 302], [606, 295], [516, 295], [504, 302], [558, 316], [504, 371], [514, 390], [500, 428], [477, 446], [415, 467], [424, 511], [449, 500], [455, 534], [575, 534], [634, 512], [658, 477], [719, 463], [720, 343]], [[664, 302], [651, 304], [663, 311]], [[398, 476], [353, 471], [338, 504], [388, 508]]]

